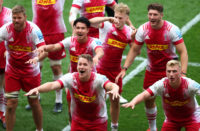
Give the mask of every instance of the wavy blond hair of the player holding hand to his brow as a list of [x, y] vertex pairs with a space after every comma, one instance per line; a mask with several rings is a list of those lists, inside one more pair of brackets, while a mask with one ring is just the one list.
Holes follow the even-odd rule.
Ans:
[[127, 15], [130, 14], [130, 9], [128, 7], [128, 5], [124, 4], [124, 3], [119, 3], [115, 6], [114, 9], [115, 12], [120, 12], [120, 13], [125, 13]]

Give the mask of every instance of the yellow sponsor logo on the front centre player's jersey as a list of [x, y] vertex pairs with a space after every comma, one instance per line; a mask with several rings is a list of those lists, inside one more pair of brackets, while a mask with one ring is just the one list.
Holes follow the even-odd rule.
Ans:
[[74, 97], [84, 103], [92, 103], [93, 101], [96, 100], [96, 95], [89, 97], [89, 96], [84, 96], [84, 95], [74, 93]]

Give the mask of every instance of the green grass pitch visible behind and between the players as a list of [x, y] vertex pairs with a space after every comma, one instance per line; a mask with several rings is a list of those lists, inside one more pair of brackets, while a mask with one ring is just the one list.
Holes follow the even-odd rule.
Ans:
[[[123, 0], [119, 2], [124, 2], [129, 5], [131, 9], [130, 19], [133, 24], [138, 28], [139, 25], [148, 21], [147, 18], [147, 5], [152, 2], [158, 2], [164, 5], [164, 18], [180, 28], [184, 26], [188, 21], [190, 21], [194, 16], [200, 13], [200, 1], [199, 0]], [[71, 7], [72, 0], [66, 0], [65, 9], [64, 9], [64, 19], [68, 29], [66, 36], [70, 36], [72, 31], [70, 24], [68, 22], [69, 10]], [[26, 8], [27, 11], [27, 19], [32, 20], [32, 7], [30, 0], [4, 0], [4, 6], [12, 8], [14, 5], [20, 4]], [[53, 23], [52, 23], [53, 26]], [[200, 23], [193, 26], [184, 36], [184, 41], [187, 46], [189, 61], [200, 63]], [[127, 54], [129, 48], [126, 48], [124, 55]], [[142, 57], [146, 57], [146, 49], [143, 47], [141, 52]], [[63, 60], [63, 72], [67, 72], [69, 63], [69, 55], [67, 58]], [[140, 61], [135, 61], [132, 66], [128, 69], [128, 72], [133, 70]], [[127, 74], [128, 74], [127, 72]], [[188, 66], [188, 77], [200, 82], [200, 67]], [[123, 97], [128, 99], [129, 101], [136, 94], [142, 91], [144, 79], [144, 71], [137, 74], [134, 79], [129, 81], [123, 89]], [[44, 62], [44, 67], [42, 70], [42, 83], [47, 81], [52, 81], [52, 72], [49, 67], [48, 59]], [[24, 92], [21, 92], [19, 97], [19, 104], [16, 111], [16, 123], [14, 131], [34, 131], [35, 125], [32, 120], [31, 111], [26, 111], [24, 106], [27, 104], [27, 98], [23, 96]], [[59, 131], [62, 130], [68, 124], [68, 116], [67, 116], [67, 106], [65, 93], [63, 92], [63, 112], [59, 114], [54, 114], [52, 112], [55, 101], [55, 92], [43, 93], [41, 94], [42, 98], [42, 109], [43, 109], [43, 129], [45, 131]], [[199, 96], [197, 96], [199, 100]], [[107, 102], [109, 107], [109, 102]], [[156, 103], [158, 106], [158, 116], [157, 116], [157, 127], [158, 130], [161, 129], [164, 114], [161, 108], [161, 98], [158, 97], [156, 99]], [[109, 115], [109, 109], [108, 109]], [[119, 119], [119, 130], [120, 131], [144, 131], [148, 128], [145, 112], [144, 112], [144, 104], [141, 103], [136, 106], [135, 110], [124, 109], [121, 108], [120, 119]], [[0, 130], [4, 130], [0, 127]], [[108, 120], [108, 130], [110, 130], [110, 115]]]

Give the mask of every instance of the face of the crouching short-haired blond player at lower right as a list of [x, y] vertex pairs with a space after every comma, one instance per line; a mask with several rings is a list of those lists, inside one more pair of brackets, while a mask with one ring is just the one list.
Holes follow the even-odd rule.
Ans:
[[167, 66], [166, 74], [169, 79], [169, 83], [176, 84], [180, 81], [181, 70], [178, 65]]

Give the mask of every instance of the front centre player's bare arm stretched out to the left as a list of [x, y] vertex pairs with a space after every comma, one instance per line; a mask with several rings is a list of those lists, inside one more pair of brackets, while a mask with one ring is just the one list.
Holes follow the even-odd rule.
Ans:
[[43, 92], [49, 92], [49, 91], [60, 89], [60, 88], [61, 88], [61, 85], [58, 81], [47, 82], [43, 85], [38, 86], [37, 88], [30, 90], [28, 93], [25, 94], [25, 96], [43, 93]]

